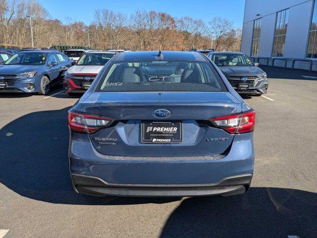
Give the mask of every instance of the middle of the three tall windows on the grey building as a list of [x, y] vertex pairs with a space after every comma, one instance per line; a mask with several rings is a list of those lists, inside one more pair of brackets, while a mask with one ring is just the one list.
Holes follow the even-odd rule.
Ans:
[[289, 9], [277, 12], [272, 57], [283, 57]]

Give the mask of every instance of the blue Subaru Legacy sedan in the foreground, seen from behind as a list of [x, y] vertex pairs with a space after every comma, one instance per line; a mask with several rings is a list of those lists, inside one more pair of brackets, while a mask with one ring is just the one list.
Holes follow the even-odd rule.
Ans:
[[197, 52], [115, 55], [68, 124], [79, 193], [228, 196], [251, 183], [255, 112]]

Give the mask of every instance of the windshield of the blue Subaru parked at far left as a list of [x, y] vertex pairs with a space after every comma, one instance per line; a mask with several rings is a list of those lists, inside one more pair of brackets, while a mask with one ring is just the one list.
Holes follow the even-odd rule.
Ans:
[[4, 64], [42, 65], [45, 63], [47, 53], [20, 52], [13, 55]]

